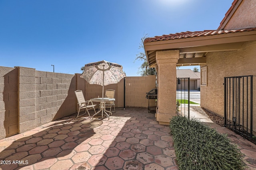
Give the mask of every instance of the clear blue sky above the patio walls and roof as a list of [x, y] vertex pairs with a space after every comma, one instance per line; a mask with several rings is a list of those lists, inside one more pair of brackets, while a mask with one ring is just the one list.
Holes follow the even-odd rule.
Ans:
[[232, 2], [0, 0], [0, 66], [53, 71], [54, 65], [55, 72], [74, 74], [106, 60], [139, 76], [142, 61], [134, 60], [144, 34], [216, 30]]

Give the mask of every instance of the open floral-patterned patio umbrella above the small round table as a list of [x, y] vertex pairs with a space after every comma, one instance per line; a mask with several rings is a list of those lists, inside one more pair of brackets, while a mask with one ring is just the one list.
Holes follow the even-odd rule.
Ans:
[[122, 65], [108, 61], [98, 61], [84, 65], [84, 72], [80, 76], [89, 84], [102, 85], [102, 98], [104, 97], [104, 86], [116, 84], [126, 77]]

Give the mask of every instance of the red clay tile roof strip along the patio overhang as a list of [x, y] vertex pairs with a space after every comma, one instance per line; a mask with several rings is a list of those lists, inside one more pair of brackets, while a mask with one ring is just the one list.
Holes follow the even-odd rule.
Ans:
[[246, 28], [241, 30], [204, 30], [204, 31], [196, 31], [196, 32], [180, 32], [176, 34], [168, 34], [162, 36], [155, 36], [153, 38], [146, 38], [144, 43], [146, 42], [156, 42], [162, 40], [175, 40], [181, 38], [193, 38], [193, 37], [200, 37], [200, 36], [213, 36], [213, 35], [220, 35], [220, 34], [229, 34], [234, 32], [245, 32], [245, 31], [252, 31], [256, 30], [256, 28]]

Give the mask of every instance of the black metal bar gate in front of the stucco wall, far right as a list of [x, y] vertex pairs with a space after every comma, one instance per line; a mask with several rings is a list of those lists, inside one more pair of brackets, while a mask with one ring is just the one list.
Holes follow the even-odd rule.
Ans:
[[224, 77], [224, 125], [252, 139], [253, 76]]

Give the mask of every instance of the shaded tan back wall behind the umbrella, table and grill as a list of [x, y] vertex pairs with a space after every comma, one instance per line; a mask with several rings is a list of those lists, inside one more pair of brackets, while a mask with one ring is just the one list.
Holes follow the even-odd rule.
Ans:
[[[80, 78], [81, 74], [76, 75], [78, 77], [78, 89], [83, 91], [86, 100], [102, 97], [101, 85], [90, 85], [84, 79]], [[148, 93], [151, 89], [156, 88], [156, 76], [149, 75], [140, 77], [126, 77], [125, 84], [126, 107], [148, 107], [148, 99], [146, 99], [146, 93]], [[104, 94], [106, 89], [115, 90], [115, 106], [124, 107], [124, 79], [122, 79], [117, 84], [104, 86]], [[155, 101], [150, 100], [150, 106], [154, 104]]]

